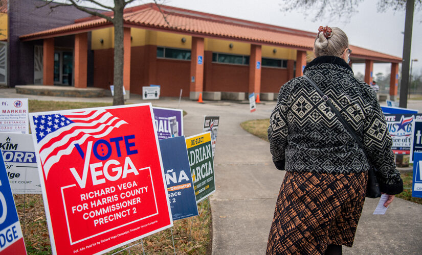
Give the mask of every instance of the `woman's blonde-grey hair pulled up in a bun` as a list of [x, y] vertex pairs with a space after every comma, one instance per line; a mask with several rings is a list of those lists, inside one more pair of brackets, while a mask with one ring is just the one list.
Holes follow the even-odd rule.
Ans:
[[344, 50], [349, 47], [347, 35], [339, 28], [332, 28], [331, 34], [326, 38], [323, 32], [320, 32], [315, 38], [314, 51], [315, 57], [336, 56], [341, 57]]

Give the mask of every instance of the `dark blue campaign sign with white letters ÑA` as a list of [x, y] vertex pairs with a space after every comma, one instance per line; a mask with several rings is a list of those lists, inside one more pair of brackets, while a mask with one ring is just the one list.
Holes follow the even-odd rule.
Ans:
[[185, 137], [163, 139], [159, 143], [173, 221], [198, 215]]

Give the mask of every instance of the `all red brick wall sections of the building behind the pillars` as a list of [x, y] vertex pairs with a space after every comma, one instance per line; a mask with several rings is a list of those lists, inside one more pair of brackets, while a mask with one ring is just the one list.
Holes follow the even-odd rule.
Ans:
[[[142, 94], [142, 86], [156, 84], [162, 96], [179, 96], [183, 89], [182, 96], [189, 97], [190, 61], [157, 59], [149, 46], [131, 48], [130, 93]], [[94, 50], [94, 87], [109, 89], [113, 84], [113, 55], [113, 49]], [[204, 55], [204, 91], [248, 92], [249, 66], [212, 63], [212, 54]], [[155, 73], [148, 77], [153, 57]], [[287, 75], [287, 69], [262, 67], [261, 92], [278, 93]]]

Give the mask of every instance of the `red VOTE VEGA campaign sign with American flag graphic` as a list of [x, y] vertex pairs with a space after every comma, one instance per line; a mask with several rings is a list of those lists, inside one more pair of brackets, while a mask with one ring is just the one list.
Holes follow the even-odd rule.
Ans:
[[112, 250], [173, 225], [150, 104], [30, 114], [51, 246]]

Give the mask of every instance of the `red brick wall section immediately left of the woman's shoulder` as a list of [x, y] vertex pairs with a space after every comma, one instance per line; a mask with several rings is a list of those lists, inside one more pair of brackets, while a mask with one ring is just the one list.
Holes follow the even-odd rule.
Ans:
[[280, 87], [288, 81], [288, 71], [283, 68], [261, 68], [261, 92], [278, 94]]

